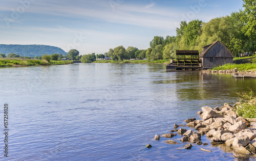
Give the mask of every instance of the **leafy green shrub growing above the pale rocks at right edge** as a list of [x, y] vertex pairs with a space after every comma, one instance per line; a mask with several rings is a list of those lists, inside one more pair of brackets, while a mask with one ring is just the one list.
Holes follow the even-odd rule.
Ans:
[[236, 105], [234, 109], [239, 116], [245, 118], [255, 118], [256, 117], [256, 97], [252, 90], [249, 93], [242, 91], [237, 93], [239, 97], [240, 105]]

